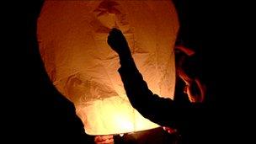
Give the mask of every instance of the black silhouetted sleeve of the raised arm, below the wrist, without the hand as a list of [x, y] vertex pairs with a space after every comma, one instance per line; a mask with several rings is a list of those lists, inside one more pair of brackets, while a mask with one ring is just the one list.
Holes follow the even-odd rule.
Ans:
[[181, 108], [180, 104], [175, 104], [172, 99], [161, 98], [152, 93], [136, 68], [132, 57], [120, 58], [120, 64], [118, 71], [131, 105], [145, 118], [158, 125], [176, 127], [175, 125], [181, 119], [181, 110], [185, 108]]

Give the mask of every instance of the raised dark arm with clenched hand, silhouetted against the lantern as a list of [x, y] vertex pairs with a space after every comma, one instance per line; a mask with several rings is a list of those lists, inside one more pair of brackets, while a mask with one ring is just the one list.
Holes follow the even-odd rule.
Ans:
[[192, 104], [177, 104], [172, 99], [161, 98], [149, 90], [147, 83], [136, 68], [127, 41], [120, 30], [110, 31], [108, 43], [120, 56], [119, 72], [125, 92], [131, 105], [141, 115], [158, 125], [171, 127], [177, 127], [180, 122], [189, 118], [190, 110], [194, 107]]

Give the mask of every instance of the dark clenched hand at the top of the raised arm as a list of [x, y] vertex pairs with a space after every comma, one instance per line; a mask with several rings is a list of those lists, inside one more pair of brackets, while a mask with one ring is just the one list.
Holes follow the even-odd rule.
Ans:
[[108, 44], [119, 56], [131, 55], [128, 43], [120, 29], [111, 29], [108, 36]]

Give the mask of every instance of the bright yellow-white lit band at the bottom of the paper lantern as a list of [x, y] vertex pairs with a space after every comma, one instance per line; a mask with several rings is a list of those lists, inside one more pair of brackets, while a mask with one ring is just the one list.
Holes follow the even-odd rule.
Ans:
[[[159, 126], [143, 118], [136, 109], [131, 107], [131, 104], [127, 100], [121, 101], [120, 96], [95, 100], [88, 107], [76, 105], [76, 108], [79, 109], [77, 110], [77, 115], [80, 117], [83, 118], [83, 115], [92, 117], [92, 119], [82, 120], [84, 120], [84, 124], [91, 125], [90, 129], [95, 131], [97, 135], [141, 131]], [[107, 125], [104, 125], [102, 122], [103, 118], [107, 122]], [[86, 132], [94, 135], [90, 131]]]

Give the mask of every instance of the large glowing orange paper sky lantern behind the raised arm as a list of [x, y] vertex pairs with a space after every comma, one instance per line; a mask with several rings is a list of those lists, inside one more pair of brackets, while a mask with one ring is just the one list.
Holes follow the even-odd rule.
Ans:
[[153, 93], [173, 96], [173, 45], [179, 23], [171, 1], [48, 0], [38, 21], [46, 71], [56, 88], [75, 104], [90, 135], [159, 126], [133, 109], [125, 95], [117, 72], [119, 58], [106, 42], [113, 27], [123, 31]]

